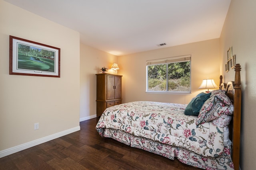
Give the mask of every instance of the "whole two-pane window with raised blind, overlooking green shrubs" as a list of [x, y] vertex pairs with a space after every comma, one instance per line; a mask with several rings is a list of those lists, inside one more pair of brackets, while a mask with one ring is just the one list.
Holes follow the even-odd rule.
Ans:
[[191, 92], [191, 55], [147, 61], [147, 92]]

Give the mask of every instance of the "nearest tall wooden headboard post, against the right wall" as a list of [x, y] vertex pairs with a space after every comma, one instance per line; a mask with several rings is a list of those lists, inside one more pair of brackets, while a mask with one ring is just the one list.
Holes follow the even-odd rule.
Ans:
[[235, 81], [234, 81], [234, 115], [233, 115], [233, 148], [232, 148], [232, 160], [235, 170], [239, 170], [240, 159], [240, 122], [241, 122], [241, 78], [240, 78], [241, 66], [236, 64], [235, 66]]

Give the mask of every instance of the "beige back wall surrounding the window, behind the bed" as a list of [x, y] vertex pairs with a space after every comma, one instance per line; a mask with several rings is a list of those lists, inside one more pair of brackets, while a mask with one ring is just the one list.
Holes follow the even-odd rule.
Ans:
[[[203, 79], [213, 78], [219, 84], [220, 51], [219, 39], [200, 41], [174, 47], [160, 48], [118, 57], [119, 74], [122, 78], [123, 102], [139, 100], [188, 104], [198, 93]], [[191, 94], [153, 94], [146, 92], [146, 61], [191, 55]]]

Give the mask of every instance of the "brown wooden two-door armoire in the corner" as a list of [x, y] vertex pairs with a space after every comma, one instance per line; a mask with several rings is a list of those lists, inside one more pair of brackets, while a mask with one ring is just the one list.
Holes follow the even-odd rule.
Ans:
[[122, 76], [101, 73], [97, 76], [97, 117], [110, 106], [122, 104]]

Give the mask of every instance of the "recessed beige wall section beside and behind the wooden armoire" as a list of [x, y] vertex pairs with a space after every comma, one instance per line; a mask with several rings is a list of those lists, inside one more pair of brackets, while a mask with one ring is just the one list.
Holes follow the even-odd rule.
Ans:
[[95, 74], [104, 66], [111, 68], [114, 62], [118, 62], [116, 56], [80, 44], [80, 121], [96, 117]]

